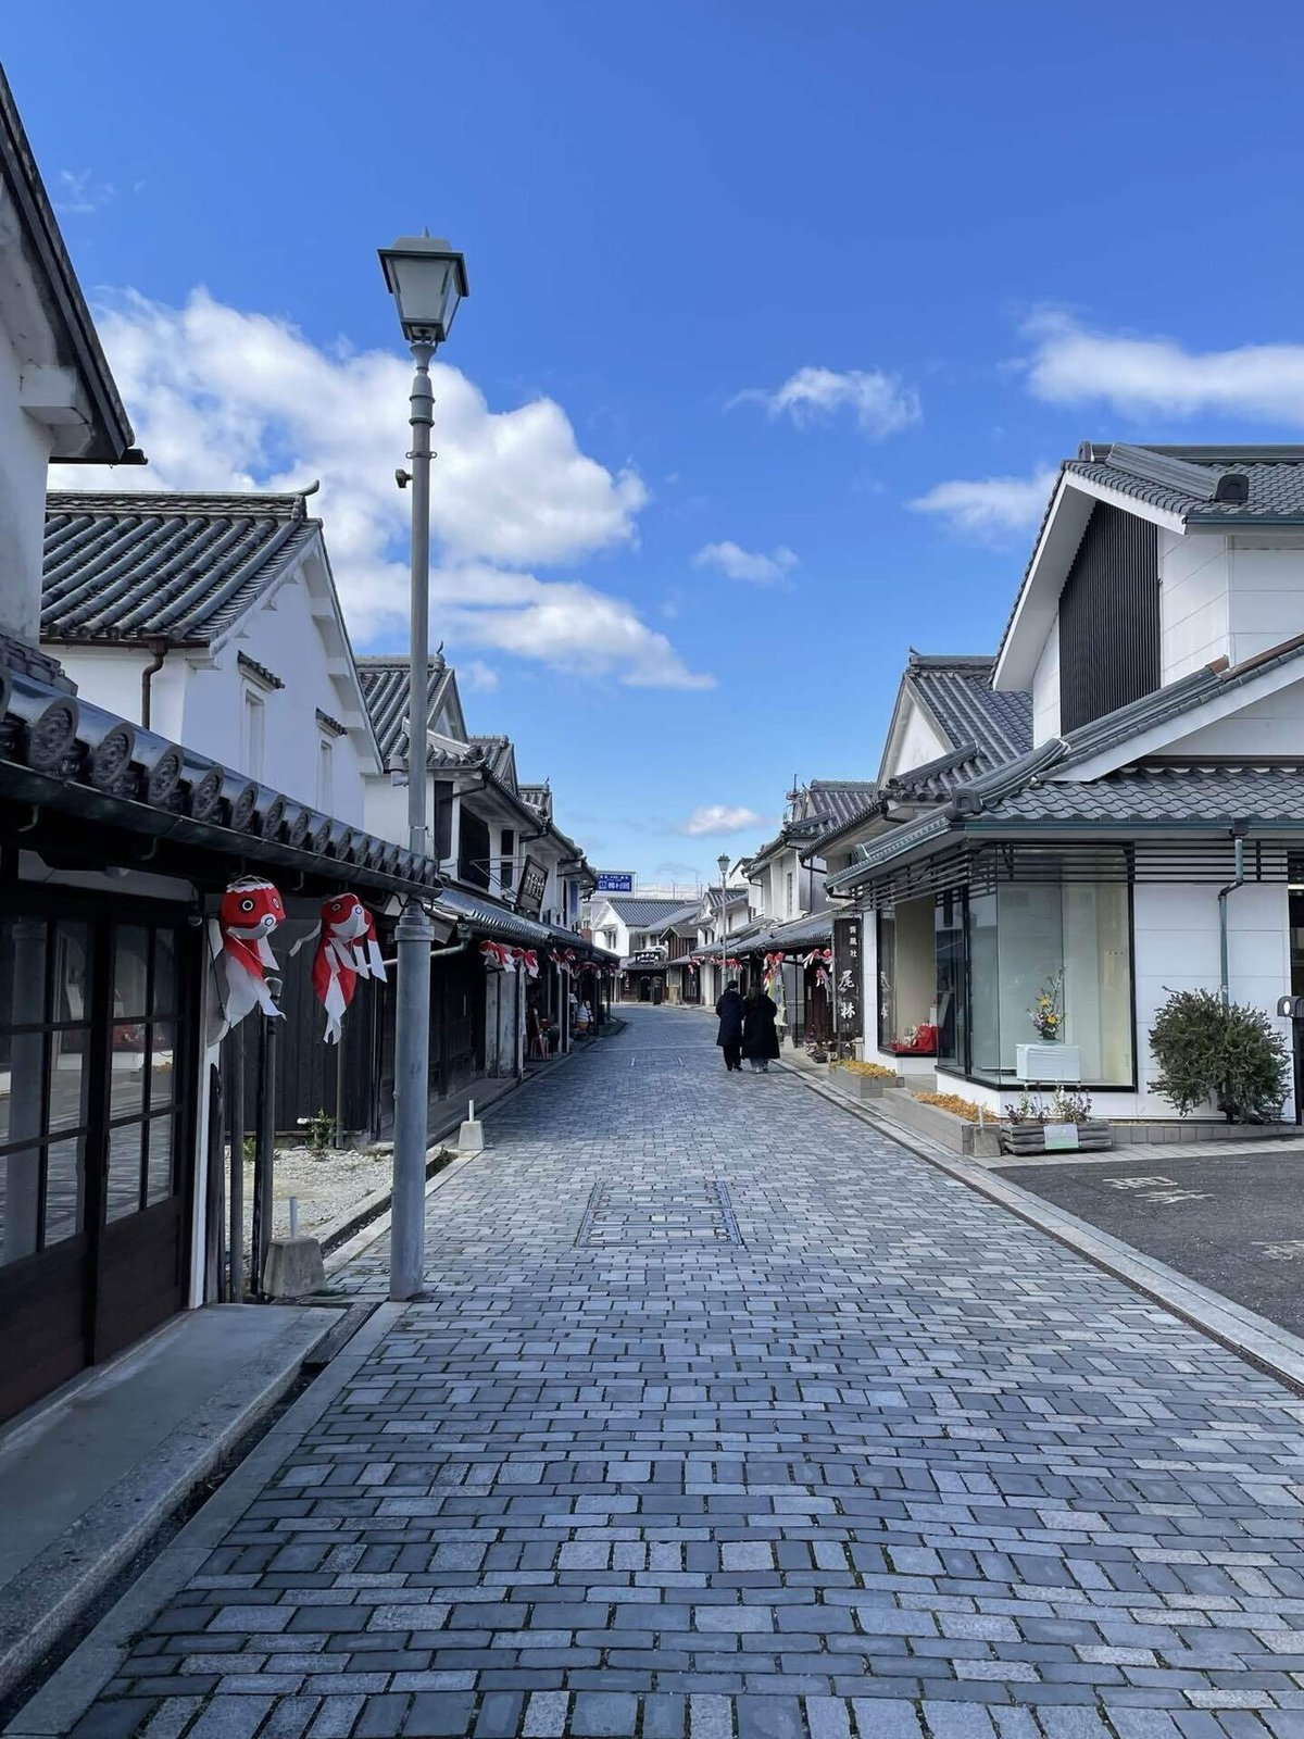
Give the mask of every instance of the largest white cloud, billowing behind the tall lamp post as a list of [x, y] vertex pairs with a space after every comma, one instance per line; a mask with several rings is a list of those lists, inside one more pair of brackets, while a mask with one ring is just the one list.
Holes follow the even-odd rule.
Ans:
[[[320, 348], [287, 320], [228, 308], [202, 289], [184, 308], [129, 294], [97, 323], [151, 463], [130, 475], [56, 468], [52, 483], [214, 492], [320, 478], [313, 511], [355, 633], [400, 635], [410, 497], [393, 470], [407, 447], [410, 363]], [[709, 687], [633, 605], [534, 572], [635, 544], [640, 476], [582, 454], [548, 398], [490, 410], [457, 369], [436, 362], [431, 376], [435, 631], [450, 652], [456, 636], [635, 687]]]

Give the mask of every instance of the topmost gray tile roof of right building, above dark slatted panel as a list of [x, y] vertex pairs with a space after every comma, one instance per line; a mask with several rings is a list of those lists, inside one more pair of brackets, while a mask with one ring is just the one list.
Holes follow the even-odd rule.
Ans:
[[[1304, 522], [1304, 447], [1132, 447], [1083, 442], [1064, 470], [1188, 523]], [[1241, 489], [1226, 478], [1245, 478]], [[1247, 499], [1236, 499], [1245, 492]], [[1222, 496], [1224, 499], [1219, 499]]]

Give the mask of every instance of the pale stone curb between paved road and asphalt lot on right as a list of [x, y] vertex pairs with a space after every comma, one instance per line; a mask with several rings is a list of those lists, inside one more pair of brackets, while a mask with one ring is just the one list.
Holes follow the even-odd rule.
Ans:
[[1200, 1329], [1201, 1334], [1226, 1346], [1227, 1351], [1236, 1353], [1238, 1358], [1243, 1358], [1257, 1370], [1276, 1377], [1295, 1393], [1304, 1393], [1304, 1339], [1299, 1336], [1278, 1327], [1278, 1323], [1269, 1322], [1266, 1316], [1259, 1316], [1257, 1311], [1245, 1309], [1243, 1304], [1233, 1303], [1221, 1292], [1201, 1287], [1196, 1280], [1188, 1280], [1186, 1275], [1181, 1275], [1175, 1268], [1168, 1268], [1167, 1263], [1134, 1250], [1130, 1243], [1123, 1243], [1121, 1238], [1114, 1238], [1108, 1231], [1099, 1231], [1085, 1219], [1078, 1219], [1076, 1214], [1068, 1214], [1064, 1209], [1043, 1202], [1041, 1196], [1033, 1195], [1029, 1189], [1021, 1189], [1017, 1184], [1007, 1183], [998, 1172], [986, 1170], [981, 1165], [960, 1160], [956, 1155], [942, 1153], [941, 1149], [928, 1151], [918, 1137], [911, 1139], [909, 1132], [899, 1123], [892, 1123], [885, 1116], [876, 1116], [857, 1101], [843, 1097], [822, 1082], [810, 1080], [802, 1069], [788, 1068], [784, 1073], [795, 1075], [810, 1092], [857, 1116], [876, 1134], [913, 1153], [915, 1158], [946, 1172], [949, 1177], [977, 1191], [977, 1195], [988, 1196], [989, 1202], [1015, 1214], [1029, 1226], [1036, 1226], [1038, 1231], [1045, 1231], [1057, 1243], [1068, 1245], [1068, 1249], [1085, 1257], [1095, 1268], [1102, 1268], [1114, 1280], [1121, 1280], [1151, 1303], [1161, 1304], [1174, 1316], [1179, 1316], [1193, 1329]]

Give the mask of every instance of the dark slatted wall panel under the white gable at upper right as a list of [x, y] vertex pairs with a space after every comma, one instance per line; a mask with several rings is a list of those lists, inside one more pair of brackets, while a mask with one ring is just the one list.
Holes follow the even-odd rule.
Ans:
[[1158, 530], [1097, 501], [1059, 600], [1061, 730], [1158, 687]]

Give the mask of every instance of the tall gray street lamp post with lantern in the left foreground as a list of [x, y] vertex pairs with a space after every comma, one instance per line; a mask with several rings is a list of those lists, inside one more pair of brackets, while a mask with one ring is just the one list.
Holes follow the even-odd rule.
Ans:
[[[429, 431], [435, 395], [429, 362], [449, 336], [468, 294], [466, 261], [429, 235], [400, 237], [381, 249], [384, 282], [398, 306], [398, 323], [412, 348], [412, 645], [407, 690], [407, 830], [409, 849], [429, 854], [426, 831], [426, 736], [429, 710]], [[389, 1221], [389, 1297], [421, 1290], [426, 1243], [426, 1134], [429, 1129], [429, 951], [435, 930], [419, 899], [398, 920], [398, 1010], [395, 1028], [395, 1170]]]

